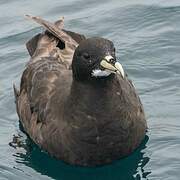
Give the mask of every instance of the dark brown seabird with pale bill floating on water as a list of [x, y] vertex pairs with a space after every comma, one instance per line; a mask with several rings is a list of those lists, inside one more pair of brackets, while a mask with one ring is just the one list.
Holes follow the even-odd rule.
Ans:
[[111, 40], [64, 29], [26, 15], [45, 29], [26, 43], [30, 60], [16, 110], [25, 133], [50, 156], [77, 166], [99, 166], [130, 155], [147, 122], [136, 89]]

